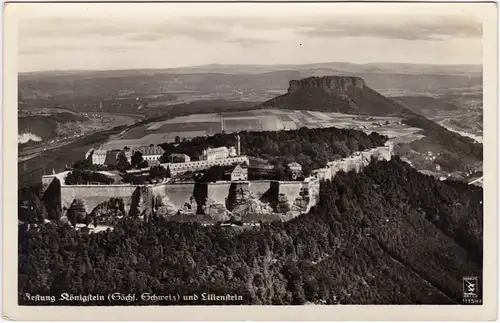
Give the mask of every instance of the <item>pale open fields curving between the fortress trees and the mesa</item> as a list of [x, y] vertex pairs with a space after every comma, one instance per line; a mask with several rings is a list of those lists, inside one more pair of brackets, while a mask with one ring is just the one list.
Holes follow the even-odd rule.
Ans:
[[[366, 117], [341, 113], [292, 110], [252, 110], [227, 112], [224, 116], [224, 130], [236, 131], [279, 131], [308, 128], [353, 128], [367, 133], [378, 132], [389, 137], [411, 136], [420, 129], [401, 124], [397, 117]], [[220, 115], [195, 114], [169, 120], [151, 122], [131, 128], [123, 135], [106, 142], [102, 149], [121, 149], [149, 144], [173, 142], [176, 136], [181, 139], [213, 135], [222, 131]]]

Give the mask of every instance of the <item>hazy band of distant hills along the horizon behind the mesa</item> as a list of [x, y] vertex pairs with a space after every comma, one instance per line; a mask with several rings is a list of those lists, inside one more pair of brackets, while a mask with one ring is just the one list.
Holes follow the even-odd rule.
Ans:
[[105, 98], [136, 99], [161, 94], [161, 101], [173, 101], [178, 93], [188, 91], [216, 96], [211, 99], [219, 96], [221, 99], [240, 100], [251, 96], [252, 101], [263, 102], [271, 98], [268, 91], [286, 91], [290, 80], [331, 75], [361, 77], [371, 88], [395, 92], [396, 95], [401, 95], [401, 92], [414, 95], [482, 86], [481, 65], [342, 62], [305, 65], [215, 64], [171, 69], [20, 73], [19, 99], [63, 100], [57, 103], [73, 105], [75, 98], [93, 99], [99, 103]]

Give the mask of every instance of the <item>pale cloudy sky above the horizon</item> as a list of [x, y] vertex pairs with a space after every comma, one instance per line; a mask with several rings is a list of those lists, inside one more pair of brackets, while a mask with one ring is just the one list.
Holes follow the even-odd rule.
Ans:
[[482, 63], [482, 16], [467, 4], [25, 5], [16, 16], [20, 72]]

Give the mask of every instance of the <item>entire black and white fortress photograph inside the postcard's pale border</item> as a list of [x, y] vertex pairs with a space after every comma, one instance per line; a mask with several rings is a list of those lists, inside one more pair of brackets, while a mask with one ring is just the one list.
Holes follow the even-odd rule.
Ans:
[[408, 6], [18, 11], [8, 297], [483, 306], [485, 10]]

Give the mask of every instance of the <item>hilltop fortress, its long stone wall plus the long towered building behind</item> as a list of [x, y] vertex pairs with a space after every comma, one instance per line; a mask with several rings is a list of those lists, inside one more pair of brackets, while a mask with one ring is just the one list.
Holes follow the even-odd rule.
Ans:
[[[216, 148], [217, 149], [217, 148]], [[237, 153], [240, 153], [238, 144]], [[217, 149], [214, 154], [226, 156], [225, 149]], [[221, 153], [222, 152], [222, 153]], [[220, 163], [249, 164], [247, 156], [229, 155], [227, 158], [207, 158], [207, 160], [184, 163], [162, 164], [171, 172], [182, 173], [209, 168]], [[212, 153], [206, 153], [209, 156]], [[96, 214], [111, 198], [123, 200], [126, 214], [150, 214], [170, 218], [173, 221], [225, 221], [231, 215], [241, 217], [244, 222], [287, 221], [309, 212], [319, 201], [321, 180], [331, 180], [339, 171], [360, 171], [372, 158], [390, 160], [393, 145], [389, 141], [384, 146], [356, 152], [349, 157], [329, 162], [326, 167], [316, 169], [302, 181], [276, 180], [234, 180], [212, 183], [163, 182], [147, 185], [66, 185], [69, 171], [44, 175], [43, 191], [52, 187], [51, 192], [60, 194], [63, 212], [75, 200], [84, 200], [87, 213]], [[214, 164], [215, 163], [215, 164]], [[293, 165], [297, 167], [300, 165]], [[140, 171], [140, 170], [137, 170]], [[236, 177], [242, 179], [243, 177]], [[133, 212], [132, 212], [133, 210]]]

